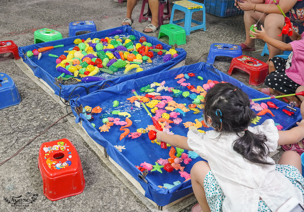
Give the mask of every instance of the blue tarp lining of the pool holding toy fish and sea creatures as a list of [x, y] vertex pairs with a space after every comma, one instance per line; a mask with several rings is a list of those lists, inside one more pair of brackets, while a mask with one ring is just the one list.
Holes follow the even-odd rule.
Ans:
[[[147, 127], [147, 125], [151, 125], [152, 121], [150, 119], [150, 116], [147, 115], [147, 112], [142, 107], [139, 109], [134, 106], [134, 103], [132, 104], [128, 100], [126, 100], [126, 98], [133, 96], [131, 89], [135, 89], [139, 95], [144, 96], [145, 93], [140, 92], [140, 88], [152, 82], [160, 83], [165, 80], [165, 86], [179, 86], [179, 84], [176, 82], [178, 79], [174, 79], [174, 77], [181, 73], [191, 72], [196, 74], [195, 77], [190, 77], [185, 81], [190, 82], [191, 85], [202, 86], [208, 81], [208, 79], [216, 80], [219, 82], [225, 81], [238, 86], [240, 89], [242, 89], [248, 94], [250, 99], [257, 97], [266, 97], [265, 94], [262, 94], [261, 92], [258, 92], [257, 90], [244, 85], [242, 82], [239, 82], [238, 80], [216, 69], [212, 69], [212, 66], [207, 63], [197, 63], [188, 66], [183, 66], [181, 68], [174, 68], [168, 71], [156, 73], [154, 75], [138, 79], [132, 79], [104, 90], [95, 91], [87, 96], [80, 97], [77, 99], [77, 105], [79, 106], [80, 104], [82, 104], [83, 107], [100, 106], [103, 108], [102, 113], [110, 113], [113, 110], [128, 112], [131, 115], [130, 119], [133, 121], [133, 125], [128, 128], [130, 129], [130, 132], [136, 132], [136, 129], [140, 127], [145, 128]], [[198, 79], [197, 76], [202, 76], [204, 80]], [[186, 87], [180, 89], [181, 91], [189, 91]], [[161, 95], [165, 96], [172, 95], [172, 93], [168, 91], [161, 91], [160, 93]], [[112, 103], [114, 100], [118, 100], [120, 102], [119, 107], [112, 107]], [[192, 100], [189, 97], [184, 98], [183, 96], [174, 98], [174, 101], [176, 101], [177, 103], [185, 103], [186, 105], [192, 103]], [[263, 102], [266, 103], [267, 101]], [[272, 113], [274, 113], [275, 117], [272, 117], [269, 113], [267, 113], [266, 115], [261, 116], [262, 118], [257, 124], [263, 123], [266, 119], [273, 118], [275, 122], [280, 123], [284, 127], [284, 129], [289, 129], [295, 126], [295, 123], [299, 121], [301, 117], [300, 111], [298, 110], [292, 116], [287, 116], [284, 112], [282, 112], [282, 109], [286, 109], [286, 103], [283, 103], [277, 99], [272, 99], [271, 101], [275, 103], [278, 107], [280, 107], [280, 109], [276, 110], [274, 108], [270, 108]], [[259, 103], [261, 102], [262, 101], [260, 101]], [[73, 109], [76, 106], [76, 99], [72, 99], [70, 101], [70, 104], [71, 108]], [[131, 107], [133, 107], [133, 109]], [[167, 113], [170, 112], [171, 111], [168, 111]], [[147, 162], [154, 165], [154, 162], [159, 158], [169, 158], [168, 152], [170, 148], [161, 149], [160, 146], [158, 146], [157, 144], [151, 143], [147, 134], [142, 134], [140, 137], [135, 139], [125, 137], [121, 141], [119, 141], [119, 136], [123, 132], [119, 130], [120, 126], [112, 126], [109, 129], [109, 132], [100, 132], [98, 130], [98, 128], [103, 125], [102, 119], [99, 118], [102, 113], [93, 115], [94, 120], [92, 121], [92, 123], [95, 123], [96, 128], [94, 128], [91, 123], [85, 119], [83, 114], [80, 114], [79, 117], [74, 110], [73, 113], [74, 116], [76, 116], [76, 122], [79, 122], [80, 117], [82, 120], [84, 120], [82, 122], [82, 125], [87, 131], [87, 133], [90, 135], [90, 137], [92, 137], [92, 139], [95, 140], [98, 144], [105, 147], [107, 154], [111, 158], [113, 158], [121, 167], [123, 167], [123, 169], [130, 173], [130, 175], [133, 176], [138, 182], [140, 182], [141, 186], [146, 192], [145, 196], [147, 198], [153, 200], [160, 206], [164, 206], [192, 192], [191, 182], [183, 182], [185, 178], [182, 178], [179, 175], [178, 171], [175, 170], [171, 173], [168, 173], [163, 170], [162, 174], [157, 171], [149, 172], [146, 177], [148, 184], [143, 182], [137, 176], [140, 171], [136, 169], [135, 165], [140, 165], [140, 163], [143, 162]], [[113, 117], [119, 116], [113, 115]], [[195, 122], [195, 119], [202, 117], [202, 112], [199, 114], [193, 114], [193, 111], [191, 110], [186, 113], [185, 117], [183, 117], [182, 115], [179, 115], [178, 117], [183, 119], [183, 121], [179, 125], [175, 125], [173, 123], [170, 124], [172, 127], [170, 131], [175, 134], [186, 136], [188, 129], [184, 127], [183, 123], [185, 123], [186, 121]], [[125, 120], [124, 117], [119, 118], [121, 120]], [[170, 118], [170, 120], [172, 120], [172, 118]], [[252, 124], [251, 126], [255, 125]], [[211, 128], [204, 127], [200, 129], [205, 131], [211, 130]], [[113, 147], [113, 145], [125, 145], [126, 149], [123, 149], [123, 151], [120, 153], [116, 148]], [[184, 165], [182, 163], [182, 166], [185, 166], [184, 171], [190, 173], [192, 165], [199, 160], [201, 160], [201, 158], [193, 159], [192, 162], [190, 162], [188, 165]], [[172, 189], [164, 189], [157, 187], [158, 185], [163, 186], [163, 183], [173, 184], [173, 182], [177, 180], [181, 181], [182, 183], [176, 187], [173, 187]]]

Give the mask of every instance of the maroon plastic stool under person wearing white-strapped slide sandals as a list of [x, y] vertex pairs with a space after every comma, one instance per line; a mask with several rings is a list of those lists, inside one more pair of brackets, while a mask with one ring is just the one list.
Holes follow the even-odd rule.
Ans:
[[[148, 12], [143, 14], [145, 11], [145, 6], [148, 4]], [[164, 12], [164, 6], [166, 5], [167, 7], [167, 12]], [[165, 15], [165, 16], [164, 16]], [[149, 1], [148, 0], [143, 0], [143, 5], [141, 6], [141, 11], [140, 11], [140, 16], [138, 22], [141, 22], [141, 20], [149, 20], [150, 18], [144, 17], [144, 16], [151, 16], [151, 10], [149, 7]], [[161, 26], [164, 24], [164, 19], [170, 18], [171, 17], [171, 12], [170, 12], [170, 5], [169, 1], [165, 3], [158, 2], [158, 26]]]

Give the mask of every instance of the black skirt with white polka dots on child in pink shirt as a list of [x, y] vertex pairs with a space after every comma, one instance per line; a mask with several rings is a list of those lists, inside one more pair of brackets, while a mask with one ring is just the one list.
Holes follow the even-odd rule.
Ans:
[[265, 79], [264, 85], [269, 88], [277, 90], [285, 94], [295, 93], [295, 90], [300, 86], [290, 79], [285, 73], [285, 64], [287, 59], [282, 57], [272, 57], [270, 59], [274, 66], [275, 71], [272, 71]]

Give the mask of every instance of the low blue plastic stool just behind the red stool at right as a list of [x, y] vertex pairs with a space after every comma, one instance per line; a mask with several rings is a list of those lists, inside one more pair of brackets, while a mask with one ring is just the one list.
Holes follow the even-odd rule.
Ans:
[[212, 43], [210, 46], [207, 63], [213, 64], [217, 56], [239, 57], [242, 55], [242, 47], [226, 43]]

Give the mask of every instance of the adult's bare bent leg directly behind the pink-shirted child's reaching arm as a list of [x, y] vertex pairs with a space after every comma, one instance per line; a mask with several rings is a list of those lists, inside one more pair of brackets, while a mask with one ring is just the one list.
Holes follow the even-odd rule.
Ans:
[[[264, 21], [264, 27], [267, 35], [274, 38], [275, 40], [282, 41], [283, 36], [278, 36], [282, 32], [284, 26], [284, 16], [282, 14], [271, 13], [268, 14]], [[267, 44], [269, 50], [269, 58], [275, 57], [281, 53], [281, 50], [276, 49], [275, 47]]]

